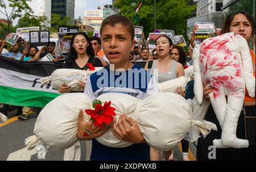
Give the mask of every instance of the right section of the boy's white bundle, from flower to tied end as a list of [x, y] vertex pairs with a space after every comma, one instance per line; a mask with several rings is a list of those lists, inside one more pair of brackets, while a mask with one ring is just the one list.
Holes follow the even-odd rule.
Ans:
[[[217, 129], [213, 123], [192, 120], [191, 107], [176, 93], [159, 92], [144, 100], [127, 94], [105, 93], [96, 99], [101, 100], [102, 103], [112, 102], [111, 106], [115, 108], [117, 121], [121, 114], [133, 118], [147, 143], [160, 151], [174, 148], [189, 131], [193, 131], [189, 135], [191, 141], [195, 141], [199, 137], [199, 131], [206, 135], [211, 129]], [[114, 148], [133, 144], [119, 140], [111, 130], [96, 139], [101, 144]]]

